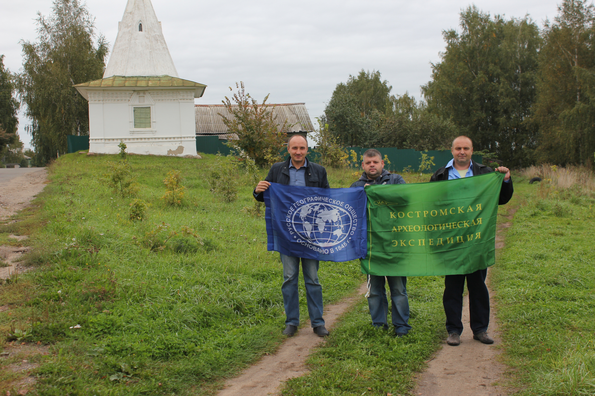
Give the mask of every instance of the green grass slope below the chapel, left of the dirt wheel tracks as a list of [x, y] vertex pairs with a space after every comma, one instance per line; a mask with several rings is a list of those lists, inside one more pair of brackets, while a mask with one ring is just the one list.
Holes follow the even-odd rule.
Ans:
[[[240, 198], [228, 204], [205, 179], [214, 156], [129, 156], [139, 197], [151, 204], [133, 222], [131, 199], [98, 182], [108, 160], [117, 157], [62, 156], [35, 207], [0, 226], [2, 240], [31, 235], [27, 260], [37, 265], [0, 286], [0, 305], [10, 307], [1, 334], [31, 330], [26, 341], [49, 344], [48, 356], [35, 357], [40, 395], [209, 394], [283, 340], [279, 256], [266, 250], [264, 219], [242, 210], [253, 205], [253, 183], [238, 175]], [[181, 207], [159, 199], [173, 169], [188, 188]], [[351, 173], [330, 170], [331, 186], [349, 186]], [[151, 251], [145, 233], [162, 221], [191, 227], [205, 246]], [[363, 281], [359, 262], [321, 263], [320, 281], [324, 302], [335, 302]], [[11, 383], [25, 375], [3, 370], [0, 389], [18, 391]]]

